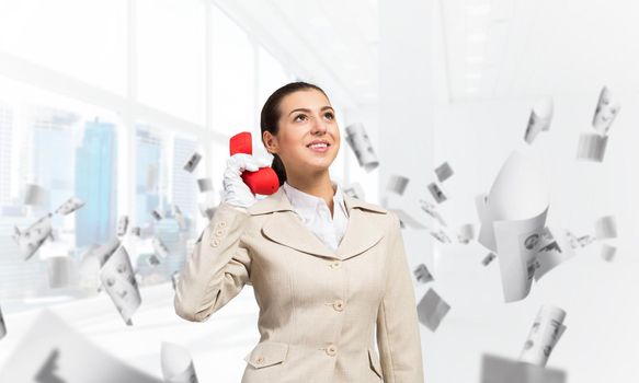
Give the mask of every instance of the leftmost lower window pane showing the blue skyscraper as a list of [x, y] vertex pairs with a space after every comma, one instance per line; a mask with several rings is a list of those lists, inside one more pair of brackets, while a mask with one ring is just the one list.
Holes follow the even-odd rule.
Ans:
[[[50, 256], [78, 259], [92, 244], [113, 235], [116, 213], [116, 116], [107, 111], [0, 78], [0, 298], [60, 293], [48, 288]], [[37, 206], [24, 205], [27, 184], [45, 189]], [[85, 205], [54, 216], [56, 241], [24, 260], [11, 239], [76, 196]]]

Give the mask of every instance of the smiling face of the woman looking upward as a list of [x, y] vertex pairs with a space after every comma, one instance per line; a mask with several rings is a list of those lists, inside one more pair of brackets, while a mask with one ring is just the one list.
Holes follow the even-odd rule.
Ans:
[[[273, 137], [275, 152], [286, 173], [327, 170], [340, 149], [340, 130], [327, 96], [315, 89], [288, 94], [279, 103], [279, 130]], [[326, 146], [311, 147], [320, 141]]]

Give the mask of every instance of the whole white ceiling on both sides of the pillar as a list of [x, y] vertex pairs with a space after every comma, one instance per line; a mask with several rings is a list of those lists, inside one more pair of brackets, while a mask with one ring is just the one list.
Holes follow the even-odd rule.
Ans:
[[[639, 1], [432, 1], [433, 34], [424, 40], [437, 61], [440, 100], [596, 94], [604, 84], [614, 92], [639, 89]], [[352, 105], [377, 101], [378, 0], [216, 2], [249, 20], [305, 80]]]

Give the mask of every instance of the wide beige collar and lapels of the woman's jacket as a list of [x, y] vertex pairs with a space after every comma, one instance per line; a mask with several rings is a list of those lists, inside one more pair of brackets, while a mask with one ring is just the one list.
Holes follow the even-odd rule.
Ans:
[[346, 259], [365, 252], [381, 240], [386, 229], [381, 223], [386, 220], [376, 219], [375, 216], [385, 214], [388, 210], [346, 194], [343, 196], [349, 222], [335, 252], [328, 248], [301, 222], [282, 187], [251, 206], [249, 213], [271, 214], [262, 227], [262, 233], [271, 241], [315, 256]]

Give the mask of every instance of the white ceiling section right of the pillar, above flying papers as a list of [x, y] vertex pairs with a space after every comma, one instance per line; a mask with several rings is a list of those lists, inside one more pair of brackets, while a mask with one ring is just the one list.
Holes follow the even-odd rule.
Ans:
[[636, 92], [639, 2], [441, 0], [452, 101]]

